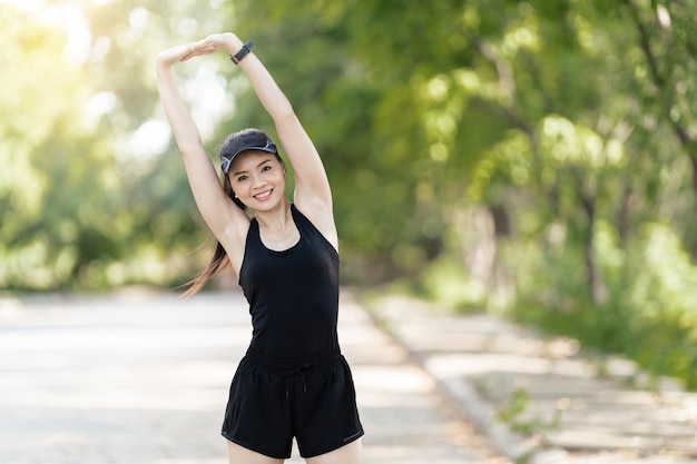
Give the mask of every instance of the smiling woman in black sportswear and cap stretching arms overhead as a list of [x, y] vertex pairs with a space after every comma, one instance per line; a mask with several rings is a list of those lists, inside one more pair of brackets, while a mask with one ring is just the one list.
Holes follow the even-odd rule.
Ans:
[[[196, 205], [218, 239], [189, 294], [229, 263], [252, 314], [252, 342], [233, 378], [222, 433], [230, 463], [283, 462], [293, 437], [308, 464], [357, 463], [363, 428], [336, 336], [338, 238], [330, 184], [291, 103], [251, 49], [252, 42], [218, 33], [163, 51], [156, 67]], [[284, 198], [276, 146], [255, 129], [223, 144], [223, 185], [217, 180], [171, 73], [175, 63], [216, 50], [230, 55], [273, 119], [295, 175], [293, 203]]]

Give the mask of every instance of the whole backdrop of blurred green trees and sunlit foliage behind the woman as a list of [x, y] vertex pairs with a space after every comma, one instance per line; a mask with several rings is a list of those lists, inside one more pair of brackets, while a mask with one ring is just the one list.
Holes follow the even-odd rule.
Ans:
[[[502, 315], [697, 388], [695, 11], [0, 1], [0, 292], [176, 288], [206, 265], [154, 58], [233, 30], [323, 156], [344, 285]], [[212, 159], [230, 131], [273, 134], [223, 53], [177, 76]]]

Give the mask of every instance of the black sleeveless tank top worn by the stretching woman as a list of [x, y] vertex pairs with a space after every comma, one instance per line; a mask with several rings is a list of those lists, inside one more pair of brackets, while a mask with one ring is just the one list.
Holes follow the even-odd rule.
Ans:
[[251, 349], [279, 358], [338, 352], [338, 254], [291, 205], [301, 238], [283, 251], [266, 248], [252, 219], [239, 285], [252, 315]]

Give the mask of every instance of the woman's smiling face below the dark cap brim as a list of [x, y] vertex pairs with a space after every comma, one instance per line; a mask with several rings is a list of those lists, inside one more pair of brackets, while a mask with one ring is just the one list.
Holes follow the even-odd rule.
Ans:
[[245, 151], [235, 157], [228, 177], [235, 196], [255, 211], [268, 211], [284, 199], [285, 168], [276, 155]]

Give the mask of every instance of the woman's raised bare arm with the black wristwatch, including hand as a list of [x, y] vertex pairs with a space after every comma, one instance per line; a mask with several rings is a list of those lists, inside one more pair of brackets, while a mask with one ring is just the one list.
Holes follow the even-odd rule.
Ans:
[[[234, 33], [213, 34], [204, 47], [223, 49], [236, 55], [243, 42]], [[336, 246], [336, 227], [332, 210], [330, 182], [317, 150], [298, 120], [293, 107], [268, 70], [254, 55], [239, 61], [262, 106], [276, 127], [281, 145], [295, 176], [294, 201], [300, 210]]]

